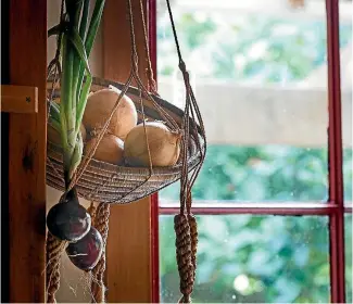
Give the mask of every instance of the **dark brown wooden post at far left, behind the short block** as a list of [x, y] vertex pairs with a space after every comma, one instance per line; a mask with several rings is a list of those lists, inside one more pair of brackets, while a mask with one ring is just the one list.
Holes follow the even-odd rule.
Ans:
[[47, 1], [10, 1], [10, 81], [38, 113], [10, 115], [10, 302], [45, 302]]

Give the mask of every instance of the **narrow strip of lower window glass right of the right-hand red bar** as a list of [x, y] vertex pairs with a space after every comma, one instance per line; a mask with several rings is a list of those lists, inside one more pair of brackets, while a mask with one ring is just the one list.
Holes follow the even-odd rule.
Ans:
[[345, 230], [345, 302], [352, 303], [352, 214], [344, 216], [344, 230]]

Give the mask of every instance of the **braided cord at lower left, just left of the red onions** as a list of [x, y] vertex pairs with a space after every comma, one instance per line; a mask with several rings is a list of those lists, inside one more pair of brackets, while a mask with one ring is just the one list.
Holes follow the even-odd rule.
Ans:
[[65, 242], [58, 240], [48, 232], [47, 251], [47, 303], [56, 303], [55, 293], [60, 288], [60, 262]]

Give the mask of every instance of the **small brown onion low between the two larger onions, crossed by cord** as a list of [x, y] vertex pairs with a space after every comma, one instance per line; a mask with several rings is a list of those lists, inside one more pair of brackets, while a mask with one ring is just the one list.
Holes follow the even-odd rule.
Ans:
[[[90, 151], [93, 144], [97, 142], [97, 138], [92, 138], [86, 144], [86, 153]], [[97, 147], [93, 159], [117, 165], [122, 163], [124, 154], [124, 142], [114, 135], [106, 134]]]

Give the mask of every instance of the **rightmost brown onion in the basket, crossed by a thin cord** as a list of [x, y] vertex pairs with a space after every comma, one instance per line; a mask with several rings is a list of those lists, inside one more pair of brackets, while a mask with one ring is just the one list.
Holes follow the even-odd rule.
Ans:
[[[161, 122], [146, 122], [153, 166], [174, 166], [180, 155], [180, 134], [171, 131]], [[126, 137], [124, 157], [130, 166], [149, 166], [143, 124], [136, 126]]]

